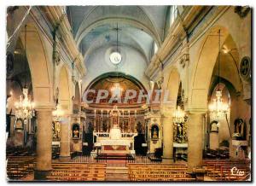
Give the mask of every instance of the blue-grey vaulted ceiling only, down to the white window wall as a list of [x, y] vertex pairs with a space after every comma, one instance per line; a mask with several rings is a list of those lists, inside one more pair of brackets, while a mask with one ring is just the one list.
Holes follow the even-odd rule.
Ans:
[[154, 42], [164, 38], [167, 6], [68, 6], [67, 16], [84, 61], [95, 49], [119, 45], [150, 61]]

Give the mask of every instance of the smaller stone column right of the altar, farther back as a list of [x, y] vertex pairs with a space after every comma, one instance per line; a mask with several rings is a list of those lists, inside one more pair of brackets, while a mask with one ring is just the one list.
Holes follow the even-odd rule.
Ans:
[[165, 113], [162, 115], [163, 125], [163, 158], [173, 159], [173, 124], [172, 114]]

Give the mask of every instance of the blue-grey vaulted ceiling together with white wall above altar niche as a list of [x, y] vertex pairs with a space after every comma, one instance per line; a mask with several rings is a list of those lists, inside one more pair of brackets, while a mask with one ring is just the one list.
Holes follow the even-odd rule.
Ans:
[[[168, 6], [66, 8], [73, 38], [87, 68], [84, 89], [96, 77], [110, 72], [130, 75], [148, 88], [145, 69], [154, 55], [155, 45], [159, 48], [164, 40]], [[114, 50], [122, 55], [119, 65], [110, 61], [109, 56]]]

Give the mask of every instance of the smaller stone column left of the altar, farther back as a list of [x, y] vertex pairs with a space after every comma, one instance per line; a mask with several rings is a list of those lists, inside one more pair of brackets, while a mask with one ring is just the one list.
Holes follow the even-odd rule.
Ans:
[[70, 117], [64, 116], [61, 121], [61, 161], [70, 160]]

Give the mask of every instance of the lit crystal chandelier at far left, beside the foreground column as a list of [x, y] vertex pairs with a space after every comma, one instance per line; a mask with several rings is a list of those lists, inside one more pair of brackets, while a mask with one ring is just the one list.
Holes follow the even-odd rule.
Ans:
[[35, 116], [34, 103], [28, 98], [28, 89], [22, 90], [23, 95], [20, 95], [20, 101], [15, 102], [15, 118], [17, 119], [32, 119]]

